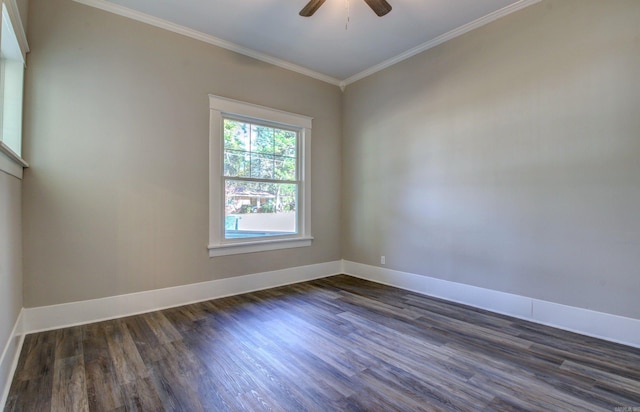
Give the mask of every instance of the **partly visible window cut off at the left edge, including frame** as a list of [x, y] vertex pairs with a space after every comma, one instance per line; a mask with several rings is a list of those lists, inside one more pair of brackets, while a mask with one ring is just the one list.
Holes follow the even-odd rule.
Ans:
[[15, 0], [2, 1], [0, 24], [0, 165], [22, 177], [22, 167], [28, 166], [21, 156], [24, 64], [29, 50]]

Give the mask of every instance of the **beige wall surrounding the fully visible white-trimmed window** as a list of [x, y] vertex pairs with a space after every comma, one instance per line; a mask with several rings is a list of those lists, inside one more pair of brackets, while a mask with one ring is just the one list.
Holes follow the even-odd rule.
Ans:
[[[339, 88], [71, 0], [31, 0], [25, 307], [338, 260]], [[312, 247], [208, 257], [208, 94], [315, 118]]]

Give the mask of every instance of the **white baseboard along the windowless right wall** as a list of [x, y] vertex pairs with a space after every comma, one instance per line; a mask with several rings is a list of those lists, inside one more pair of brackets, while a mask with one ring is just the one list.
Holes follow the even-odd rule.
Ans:
[[342, 269], [345, 274], [361, 279], [640, 348], [640, 319], [561, 305], [347, 260], [343, 261]]

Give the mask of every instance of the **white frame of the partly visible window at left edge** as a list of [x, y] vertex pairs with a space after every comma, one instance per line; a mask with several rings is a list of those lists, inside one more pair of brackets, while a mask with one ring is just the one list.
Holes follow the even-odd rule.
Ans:
[[[0, 170], [9, 173], [19, 179], [22, 178], [23, 168], [29, 167], [29, 164], [22, 158], [22, 115], [23, 115], [23, 96], [24, 96], [24, 69], [26, 66], [26, 55], [29, 52], [29, 45], [27, 43], [27, 37], [25, 35], [24, 26], [20, 19], [20, 13], [15, 0], [2, 0], [1, 10], [2, 18], [0, 19], [0, 41], [2, 40], [2, 31], [9, 29], [12, 37], [14, 38], [15, 50], [18, 50], [19, 56], [13, 56], [11, 59], [14, 63], [22, 64], [21, 84], [19, 85], [18, 95], [14, 95], [14, 99], [18, 101], [20, 107], [17, 113], [18, 118], [14, 119], [14, 128], [17, 131], [17, 136], [13, 136], [12, 140], [19, 140], [18, 147], [11, 147], [8, 145], [7, 139], [4, 136], [4, 120], [3, 115], [5, 112], [5, 64], [3, 62], [0, 73]], [[6, 25], [5, 25], [6, 24]], [[8, 27], [7, 27], [8, 26]], [[13, 53], [16, 54], [16, 53]], [[17, 149], [17, 151], [15, 150]]]

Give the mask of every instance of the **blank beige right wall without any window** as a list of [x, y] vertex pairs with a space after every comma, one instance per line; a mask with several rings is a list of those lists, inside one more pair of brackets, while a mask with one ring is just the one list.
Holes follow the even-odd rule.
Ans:
[[344, 258], [640, 318], [638, 22], [543, 1], [350, 85]]

